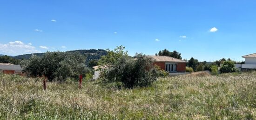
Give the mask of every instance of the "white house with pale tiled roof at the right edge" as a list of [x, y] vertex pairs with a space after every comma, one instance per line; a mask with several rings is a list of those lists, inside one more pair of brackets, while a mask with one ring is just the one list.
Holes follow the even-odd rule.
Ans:
[[241, 71], [247, 71], [251, 69], [256, 69], [256, 53], [249, 54], [246, 56], [242, 56], [245, 58], [244, 64], [235, 64], [236, 68], [240, 69]]

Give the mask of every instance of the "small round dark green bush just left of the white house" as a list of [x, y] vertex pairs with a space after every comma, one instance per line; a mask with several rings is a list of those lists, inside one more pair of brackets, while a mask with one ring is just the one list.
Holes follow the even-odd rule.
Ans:
[[236, 67], [234, 62], [232, 61], [225, 61], [220, 68], [221, 73], [231, 73], [236, 72]]

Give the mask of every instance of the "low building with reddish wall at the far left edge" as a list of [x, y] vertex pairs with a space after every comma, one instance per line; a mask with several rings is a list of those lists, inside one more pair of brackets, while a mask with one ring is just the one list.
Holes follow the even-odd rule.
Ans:
[[0, 72], [5, 74], [22, 74], [20, 65], [14, 65], [11, 63], [0, 63]]

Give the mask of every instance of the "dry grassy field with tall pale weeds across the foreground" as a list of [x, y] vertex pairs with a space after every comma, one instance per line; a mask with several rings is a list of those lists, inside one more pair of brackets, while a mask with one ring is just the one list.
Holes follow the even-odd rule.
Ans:
[[0, 119], [256, 118], [256, 72], [162, 78], [146, 88], [0, 74]]

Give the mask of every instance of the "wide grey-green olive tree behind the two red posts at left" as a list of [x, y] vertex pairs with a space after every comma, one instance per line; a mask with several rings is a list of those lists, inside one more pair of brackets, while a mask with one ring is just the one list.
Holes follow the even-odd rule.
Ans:
[[65, 81], [68, 77], [78, 79], [79, 75], [89, 72], [85, 57], [79, 53], [46, 52], [42, 57], [32, 56], [20, 64], [27, 76], [44, 75], [49, 81]]

